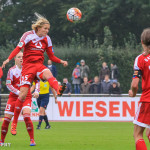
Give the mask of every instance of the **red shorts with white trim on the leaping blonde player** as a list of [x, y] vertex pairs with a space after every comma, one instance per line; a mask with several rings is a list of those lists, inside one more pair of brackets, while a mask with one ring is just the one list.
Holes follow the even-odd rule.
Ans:
[[22, 77], [21, 85], [29, 84], [31, 85], [32, 81], [35, 78], [41, 79], [39, 76], [43, 73], [44, 70], [49, 70], [46, 66], [41, 63], [28, 63], [23, 64], [22, 67]]

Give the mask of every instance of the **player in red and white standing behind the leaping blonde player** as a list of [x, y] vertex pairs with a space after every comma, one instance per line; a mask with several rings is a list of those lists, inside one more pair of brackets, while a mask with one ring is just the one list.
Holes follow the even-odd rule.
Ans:
[[[19, 52], [15, 57], [15, 66], [11, 67], [7, 74], [6, 86], [9, 89], [10, 94], [9, 94], [9, 99], [7, 101], [7, 105], [5, 108], [4, 121], [1, 126], [0, 145], [4, 143], [5, 136], [8, 131], [9, 123], [14, 115], [15, 103], [20, 93], [19, 89], [20, 89], [20, 75], [21, 75], [21, 67], [22, 67], [21, 65], [23, 61], [22, 57], [23, 57], [23, 53]], [[34, 142], [33, 123], [30, 118], [31, 98], [32, 98], [32, 95], [29, 90], [27, 97], [26, 97], [26, 101], [23, 103], [22, 111], [23, 111], [23, 118], [26, 124], [26, 128], [30, 136], [30, 146], [35, 146], [36, 144]]]

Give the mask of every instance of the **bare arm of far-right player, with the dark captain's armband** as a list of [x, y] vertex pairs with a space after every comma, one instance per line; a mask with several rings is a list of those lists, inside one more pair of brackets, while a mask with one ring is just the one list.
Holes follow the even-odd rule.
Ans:
[[129, 96], [130, 97], [136, 96], [141, 75], [142, 75], [141, 70], [134, 70], [133, 79], [131, 82], [131, 89], [129, 90]]

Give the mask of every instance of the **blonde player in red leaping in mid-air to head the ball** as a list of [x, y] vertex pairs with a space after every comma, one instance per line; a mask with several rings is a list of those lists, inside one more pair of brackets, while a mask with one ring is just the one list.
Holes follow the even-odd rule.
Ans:
[[[63, 92], [63, 87], [59, 88], [58, 81], [53, 77], [51, 71], [43, 65], [44, 52], [46, 51], [50, 60], [56, 63], [61, 63], [67, 66], [67, 61], [63, 61], [54, 56], [52, 42], [47, 35], [50, 29], [49, 21], [43, 16], [36, 13], [37, 20], [32, 24], [32, 31], [23, 34], [18, 46], [12, 51], [8, 59], [3, 62], [2, 67], [14, 57], [18, 52], [24, 48], [23, 51], [23, 64], [22, 64], [22, 78], [19, 97], [16, 101], [14, 110], [13, 129], [16, 131], [16, 124], [18, 116], [22, 109], [22, 104], [26, 99], [28, 90], [32, 81], [37, 76], [40, 80], [48, 81], [50, 86], [55, 89], [58, 95]], [[65, 85], [64, 85], [65, 86]], [[19, 108], [19, 109], [16, 109]]]

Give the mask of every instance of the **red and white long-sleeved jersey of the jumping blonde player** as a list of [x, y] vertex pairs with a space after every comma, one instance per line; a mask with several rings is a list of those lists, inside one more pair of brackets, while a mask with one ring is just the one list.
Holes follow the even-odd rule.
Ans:
[[23, 64], [43, 64], [45, 51], [47, 52], [47, 55], [50, 60], [56, 63], [61, 62], [59, 58], [54, 56], [52, 41], [48, 35], [39, 37], [34, 30], [25, 32], [21, 37], [18, 46], [12, 51], [8, 59], [11, 60], [14, 56], [16, 56], [19, 53], [19, 51], [22, 48], [24, 48]]

